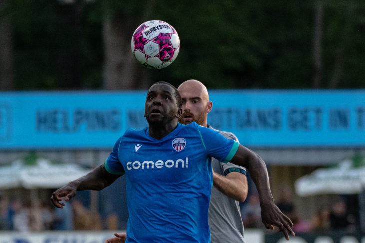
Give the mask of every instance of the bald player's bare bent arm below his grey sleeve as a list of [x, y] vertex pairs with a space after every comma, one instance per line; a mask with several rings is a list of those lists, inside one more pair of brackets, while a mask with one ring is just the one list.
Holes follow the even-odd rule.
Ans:
[[230, 172], [226, 176], [213, 172], [213, 185], [225, 196], [243, 202], [248, 194], [247, 177], [241, 172]]

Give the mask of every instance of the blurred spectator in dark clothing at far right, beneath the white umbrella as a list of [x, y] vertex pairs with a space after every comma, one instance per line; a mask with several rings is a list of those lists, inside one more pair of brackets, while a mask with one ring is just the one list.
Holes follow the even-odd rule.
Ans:
[[355, 230], [354, 216], [347, 214], [347, 205], [343, 199], [338, 199], [334, 202], [329, 218], [331, 229], [345, 230], [347, 232]]

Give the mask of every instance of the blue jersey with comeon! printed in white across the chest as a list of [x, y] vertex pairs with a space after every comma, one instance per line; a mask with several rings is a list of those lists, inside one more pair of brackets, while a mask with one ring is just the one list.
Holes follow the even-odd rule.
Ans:
[[160, 140], [128, 129], [105, 161], [126, 176], [127, 243], [209, 243], [211, 157], [229, 161], [238, 143], [218, 132], [178, 124]]

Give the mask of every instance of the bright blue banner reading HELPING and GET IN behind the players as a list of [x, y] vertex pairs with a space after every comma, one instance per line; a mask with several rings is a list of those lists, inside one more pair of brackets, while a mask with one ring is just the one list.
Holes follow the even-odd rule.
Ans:
[[[365, 145], [365, 90], [211, 90], [209, 124], [248, 147]], [[111, 148], [146, 91], [0, 92], [0, 149]]]

